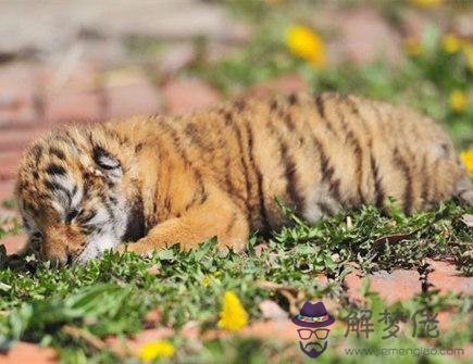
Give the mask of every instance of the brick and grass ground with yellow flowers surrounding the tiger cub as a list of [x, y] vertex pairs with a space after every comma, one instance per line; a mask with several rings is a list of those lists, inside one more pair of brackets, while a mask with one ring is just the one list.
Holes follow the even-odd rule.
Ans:
[[[244, 254], [209, 241], [80, 267], [5, 262], [25, 240], [12, 201], [18, 159], [60, 125], [336, 90], [410, 105], [459, 151], [473, 148], [469, 3], [51, 1], [3, 2], [0, 13], [0, 363], [306, 362], [288, 319], [306, 300], [336, 317], [318, 361], [358, 362], [351, 349], [373, 350], [359, 354], [368, 362], [390, 349], [418, 350], [406, 362], [473, 359], [473, 210], [460, 201], [414, 216], [393, 201], [389, 217], [364, 206], [314, 226], [286, 210], [294, 225], [256, 234]], [[219, 325], [228, 291], [231, 316], [248, 315], [237, 331]], [[353, 321], [363, 309], [371, 318]]]

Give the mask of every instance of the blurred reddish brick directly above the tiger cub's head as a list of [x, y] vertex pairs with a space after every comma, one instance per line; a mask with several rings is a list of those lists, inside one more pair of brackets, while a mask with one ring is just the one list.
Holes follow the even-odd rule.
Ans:
[[45, 116], [49, 123], [94, 122], [104, 116], [99, 92], [64, 91], [47, 99]]

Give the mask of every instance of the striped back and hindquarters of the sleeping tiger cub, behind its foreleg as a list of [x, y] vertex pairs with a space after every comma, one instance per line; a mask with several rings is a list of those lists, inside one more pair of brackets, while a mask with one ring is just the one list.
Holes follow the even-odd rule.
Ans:
[[431, 118], [352, 96], [238, 101], [173, 125], [256, 228], [284, 223], [275, 197], [311, 222], [362, 203], [386, 208], [388, 197], [411, 213], [450, 197], [463, 176]]

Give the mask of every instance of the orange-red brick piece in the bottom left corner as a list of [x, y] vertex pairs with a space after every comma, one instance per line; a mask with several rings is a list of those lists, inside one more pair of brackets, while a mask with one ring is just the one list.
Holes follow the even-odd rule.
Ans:
[[16, 342], [5, 354], [0, 353], [1, 364], [52, 364], [58, 362], [58, 354], [53, 349], [41, 348], [29, 342]]

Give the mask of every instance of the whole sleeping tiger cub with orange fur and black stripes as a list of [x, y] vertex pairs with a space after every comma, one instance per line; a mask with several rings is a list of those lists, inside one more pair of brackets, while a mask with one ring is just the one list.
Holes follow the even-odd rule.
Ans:
[[275, 197], [313, 223], [387, 210], [388, 197], [412, 213], [452, 196], [472, 203], [473, 187], [438, 125], [336, 93], [54, 131], [26, 151], [16, 185], [30, 246], [59, 263], [214, 236], [241, 251], [251, 231], [286, 223]]

